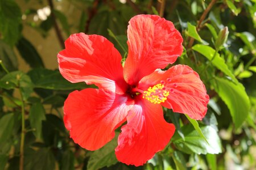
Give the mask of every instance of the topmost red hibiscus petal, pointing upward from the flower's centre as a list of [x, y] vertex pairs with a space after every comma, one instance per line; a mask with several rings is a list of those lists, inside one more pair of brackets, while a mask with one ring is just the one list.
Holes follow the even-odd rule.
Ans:
[[127, 83], [134, 85], [155, 69], [174, 63], [183, 51], [183, 39], [172, 22], [158, 15], [137, 15], [127, 30], [129, 53], [124, 66]]

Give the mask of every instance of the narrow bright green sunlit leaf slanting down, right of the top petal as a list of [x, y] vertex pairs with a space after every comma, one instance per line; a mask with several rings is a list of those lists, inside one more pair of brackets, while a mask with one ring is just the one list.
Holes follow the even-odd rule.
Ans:
[[[212, 61], [213, 65], [215, 67], [217, 67], [217, 69], [221, 70], [223, 73], [230, 76], [230, 78], [232, 78], [232, 80], [235, 83], [238, 83], [238, 80], [233, 75], [232, 71], [229, 70], [224, 59], [221, 58], [220, 54], [216, 53], [216, 51], [213, 48], [211, 48], [210, 46], [207, 46], [207, 45], [196, 44], [192, 47], [192, 49], [199, 52], [200, 54], [202, 54], [204, 57], [209, 59], [209, 61]], [[214, 57], [215, 53], [216, 53], [216, 55]]]

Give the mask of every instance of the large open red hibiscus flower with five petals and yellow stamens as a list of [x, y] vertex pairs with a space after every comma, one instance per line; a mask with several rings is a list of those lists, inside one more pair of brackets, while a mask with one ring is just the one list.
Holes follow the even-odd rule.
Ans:
[[170, 21], [137, 15], [127, 35], [124, 67], [114, 45], [99, 35], [71, 35], [57, 57], [65, 79], [98, 87], [73, 91], [65, 101], [64, 123], [71, 138], [87, 150], [97, 150], [127, 121], [115, 155], [122, 163], [139, 166], [163, 150], [174, 134], [175, 126], [164, 120], [162, 106], [201, 120], [209, 96], [188, 66], [156, 70], [174, 63], [183, 51], [183, 39]]

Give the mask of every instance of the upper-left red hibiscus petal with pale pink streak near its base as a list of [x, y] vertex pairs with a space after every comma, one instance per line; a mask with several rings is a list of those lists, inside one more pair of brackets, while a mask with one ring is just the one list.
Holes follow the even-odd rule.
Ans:
[[103, 36], [73, 34], [57, 57], [60, 73], [72, 83], [96, 84], [117, 93], [126, 90], [121, 54]]

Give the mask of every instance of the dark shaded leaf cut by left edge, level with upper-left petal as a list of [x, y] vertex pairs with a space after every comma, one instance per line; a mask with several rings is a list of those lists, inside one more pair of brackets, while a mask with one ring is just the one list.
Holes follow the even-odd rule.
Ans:
[[8, 71], [17, 69], [18, 62], [13, 49], [2, 40], [0, 40], [0, 59]]

